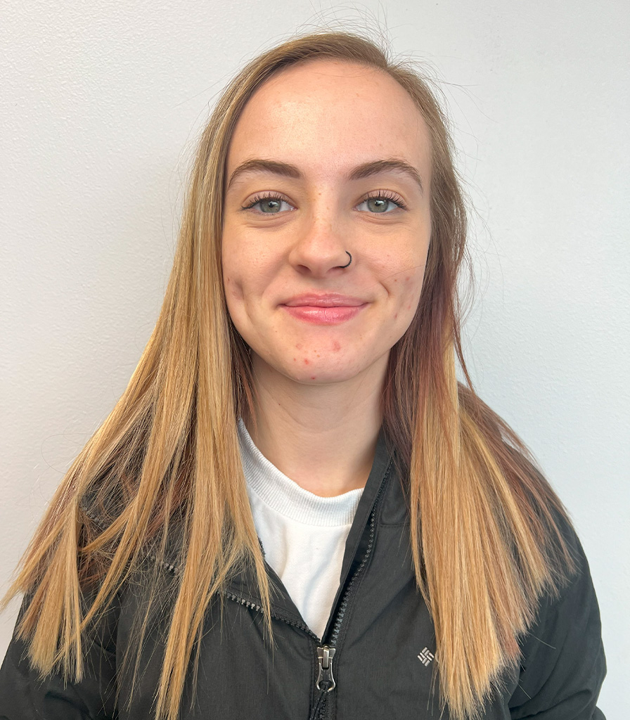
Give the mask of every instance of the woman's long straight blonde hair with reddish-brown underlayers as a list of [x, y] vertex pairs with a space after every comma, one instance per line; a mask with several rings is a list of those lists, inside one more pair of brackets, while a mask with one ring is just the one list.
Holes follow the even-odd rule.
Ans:
[[[364, 37], [319, 32], [284, 42], [248, 64], [220, 98], [199, 143], [156, 328], [125, 393], [68, 470], [5, 598], [28, 597], [19, 634], [32, 664], [81, 678], [87, 629], [148, 552], [156, 564], [164, 560], [169, 527], [177, 526], [181, 572], [172, 588], [158, 719], [176, 719], [204, 613], [244, 563], [255, 569], [271, 636], [269, 584], [236, 433], [237, 418], [253, 408], [253, 386], [248, 348], [223, 292], [223, 185], [228, 143], [253, 91], [272, 73], [312, 58], [388, 73], [431, 133], [426, 276], [413, 323], [390, 354], [383, 410], [408, 479], [415, 575], [435, 624], [451, 715], [479, 711], [500, 672], [518, 660], [518, 636], [541, 593], [557, 589], [572, 567], [559, 500], [510, 428], [456, 380], [456, 359], [466, 374], [456, 291], [466, 213], [433, 91]], [[148, 615], [138, 624], [138, 647]], [[136, 663], [139, 657], [138, 649]]]

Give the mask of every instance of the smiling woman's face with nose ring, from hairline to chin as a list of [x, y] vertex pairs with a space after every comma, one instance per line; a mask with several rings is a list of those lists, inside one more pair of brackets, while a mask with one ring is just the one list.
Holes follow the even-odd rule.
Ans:
[[314, 60], [251, 97], [228, 149], [222, 266], [254, 371], [382, 379], [431, 229], [431, 147], [387, 74]]

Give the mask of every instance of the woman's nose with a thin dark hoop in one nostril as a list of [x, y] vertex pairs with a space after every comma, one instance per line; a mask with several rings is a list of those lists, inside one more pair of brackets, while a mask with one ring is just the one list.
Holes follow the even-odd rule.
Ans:
[[[297, 229], [296, 229], [297, 230]], [[300, 274], [325, 277], [346, 271], [351, 264], [348, 233], [330, 215], [305, 218], [289, 253], [289, 262]]]

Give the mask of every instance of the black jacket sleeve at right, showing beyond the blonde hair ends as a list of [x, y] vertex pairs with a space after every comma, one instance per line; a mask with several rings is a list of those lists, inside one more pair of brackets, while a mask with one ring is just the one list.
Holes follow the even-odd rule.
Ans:
[[596, 706], [606, 675], [597, 598], [575, 533], [567, 538], [577, 574], [559, 598], [545, 597], [521, 641], [521, 674], [510, 699], [513, 720], [605, 720]]

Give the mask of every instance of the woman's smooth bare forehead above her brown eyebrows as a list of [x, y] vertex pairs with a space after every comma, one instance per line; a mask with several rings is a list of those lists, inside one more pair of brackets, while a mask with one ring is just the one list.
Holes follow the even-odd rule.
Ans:
[[413, 99], [376, 68], [318, 59], [285, 68], [256, 90], [233, 132], [228, 173], [251, 158], [333, 172], [385, 157], [428, 174], [430, 136]]

